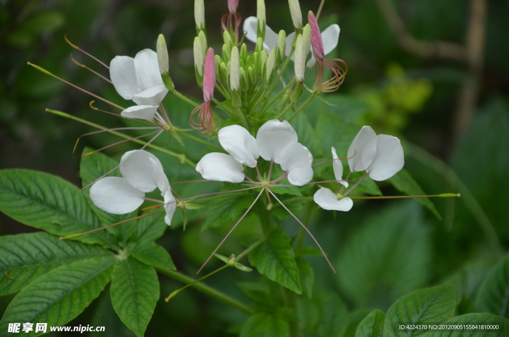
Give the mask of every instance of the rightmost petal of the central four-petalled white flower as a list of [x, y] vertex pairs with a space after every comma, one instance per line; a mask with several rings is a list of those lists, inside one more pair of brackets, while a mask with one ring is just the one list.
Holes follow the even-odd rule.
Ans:
[[292, 143], [280, 155], [281, 168], [288, 172], [288, 181], [292, 185], [302, 186], [313, 179], [313, 155], [300, 143]]

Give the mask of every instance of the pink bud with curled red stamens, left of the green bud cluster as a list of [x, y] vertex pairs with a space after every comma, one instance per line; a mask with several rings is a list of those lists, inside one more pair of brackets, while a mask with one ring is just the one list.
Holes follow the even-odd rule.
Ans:
[[[214, 114], [212, 113], [212, 106], [210, 101], [214, 97], [214, 87], [216, 85], [216, 68], [214, 62], [214, 49], [209, 48], [205, 57], [205, 67], [203, 71], [203, 100], [202, 105], [197, 106], [192, 110], [189, 123], [191, 126], [205, 134], [211, 134], [216, 129], [214, 122]], [[193, 117], [198, 113], [197, 121]]]

